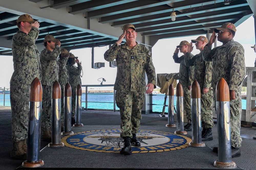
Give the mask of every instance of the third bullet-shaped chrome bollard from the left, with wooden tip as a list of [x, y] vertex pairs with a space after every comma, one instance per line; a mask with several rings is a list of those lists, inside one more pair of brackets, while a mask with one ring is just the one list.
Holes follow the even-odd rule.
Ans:
[[64, 131], [61, 135], [74, 135], [71, 131], [71, 86], [69, 83], [64, 87]]

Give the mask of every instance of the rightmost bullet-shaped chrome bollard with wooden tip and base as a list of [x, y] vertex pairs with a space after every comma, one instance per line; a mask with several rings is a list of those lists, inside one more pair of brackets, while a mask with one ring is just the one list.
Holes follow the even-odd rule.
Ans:
[[233, 169], [237, 165], [232, 161], [230, 138], [230, 109], [229, 88], [227, 82], [221, 78], [216, 86], [216, 112], [218, 127], [218, 161], [214, 166]]

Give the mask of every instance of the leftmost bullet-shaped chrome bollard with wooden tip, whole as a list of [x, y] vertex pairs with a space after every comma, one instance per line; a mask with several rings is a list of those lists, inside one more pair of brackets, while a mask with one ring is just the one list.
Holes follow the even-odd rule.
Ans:
[[44, 165], [40, 160], [42, 86], [36, 77], [30, 86], [27, 160], [21, 166], [35, 168]]

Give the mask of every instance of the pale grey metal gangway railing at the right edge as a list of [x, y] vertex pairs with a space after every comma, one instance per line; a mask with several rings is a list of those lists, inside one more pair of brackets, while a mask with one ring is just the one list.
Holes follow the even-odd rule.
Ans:
[[246, 87], [247, 94], [242, 96], [242, 99], [246, 100], [246, 109], [242, 109], [241, 121], [256, 122], [256, 112], [252, 112], [251, 109], [255, 107], [255, 88], [256, 82], [253, 79], [253, 71], [256, 71], [256, 67], [246, 67], [246, 78], [243, 81], [242, 86]]

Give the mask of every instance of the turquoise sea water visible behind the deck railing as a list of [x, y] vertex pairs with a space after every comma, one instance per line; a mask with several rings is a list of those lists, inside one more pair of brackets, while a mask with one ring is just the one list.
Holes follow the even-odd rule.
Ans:
[[[162, 112], [164, 104], [164, 94], [156, 94], [152, 96], [153, 112]], [[4, 105], [4, 95], [0, 94], [0, 106]], [[10, 106], [10, 94], [5, 95], [5, 106]], [[88, 93], [88, 108], [94, 109], [110, 109], [113, 110], [113, 93]], [[101, 103], [102, 102], [102, 103]], [[107, 103], [103, 103], [107, 102]], [[147, 103], [146, 103], [147, 104]], [[168, 96], [166, 104], [168, 104]], [[174, 104], [176, 100], [174, 97]], [[82, 106], [85, 108], [85, 94], [82, 94]], [[242, 100], [242, 109], [246, 109], [246, 100]], [[116, 110], [119, 108], [116, 106]], [[165, 107], [165, 112], [168, 113], [168, 107]]]

